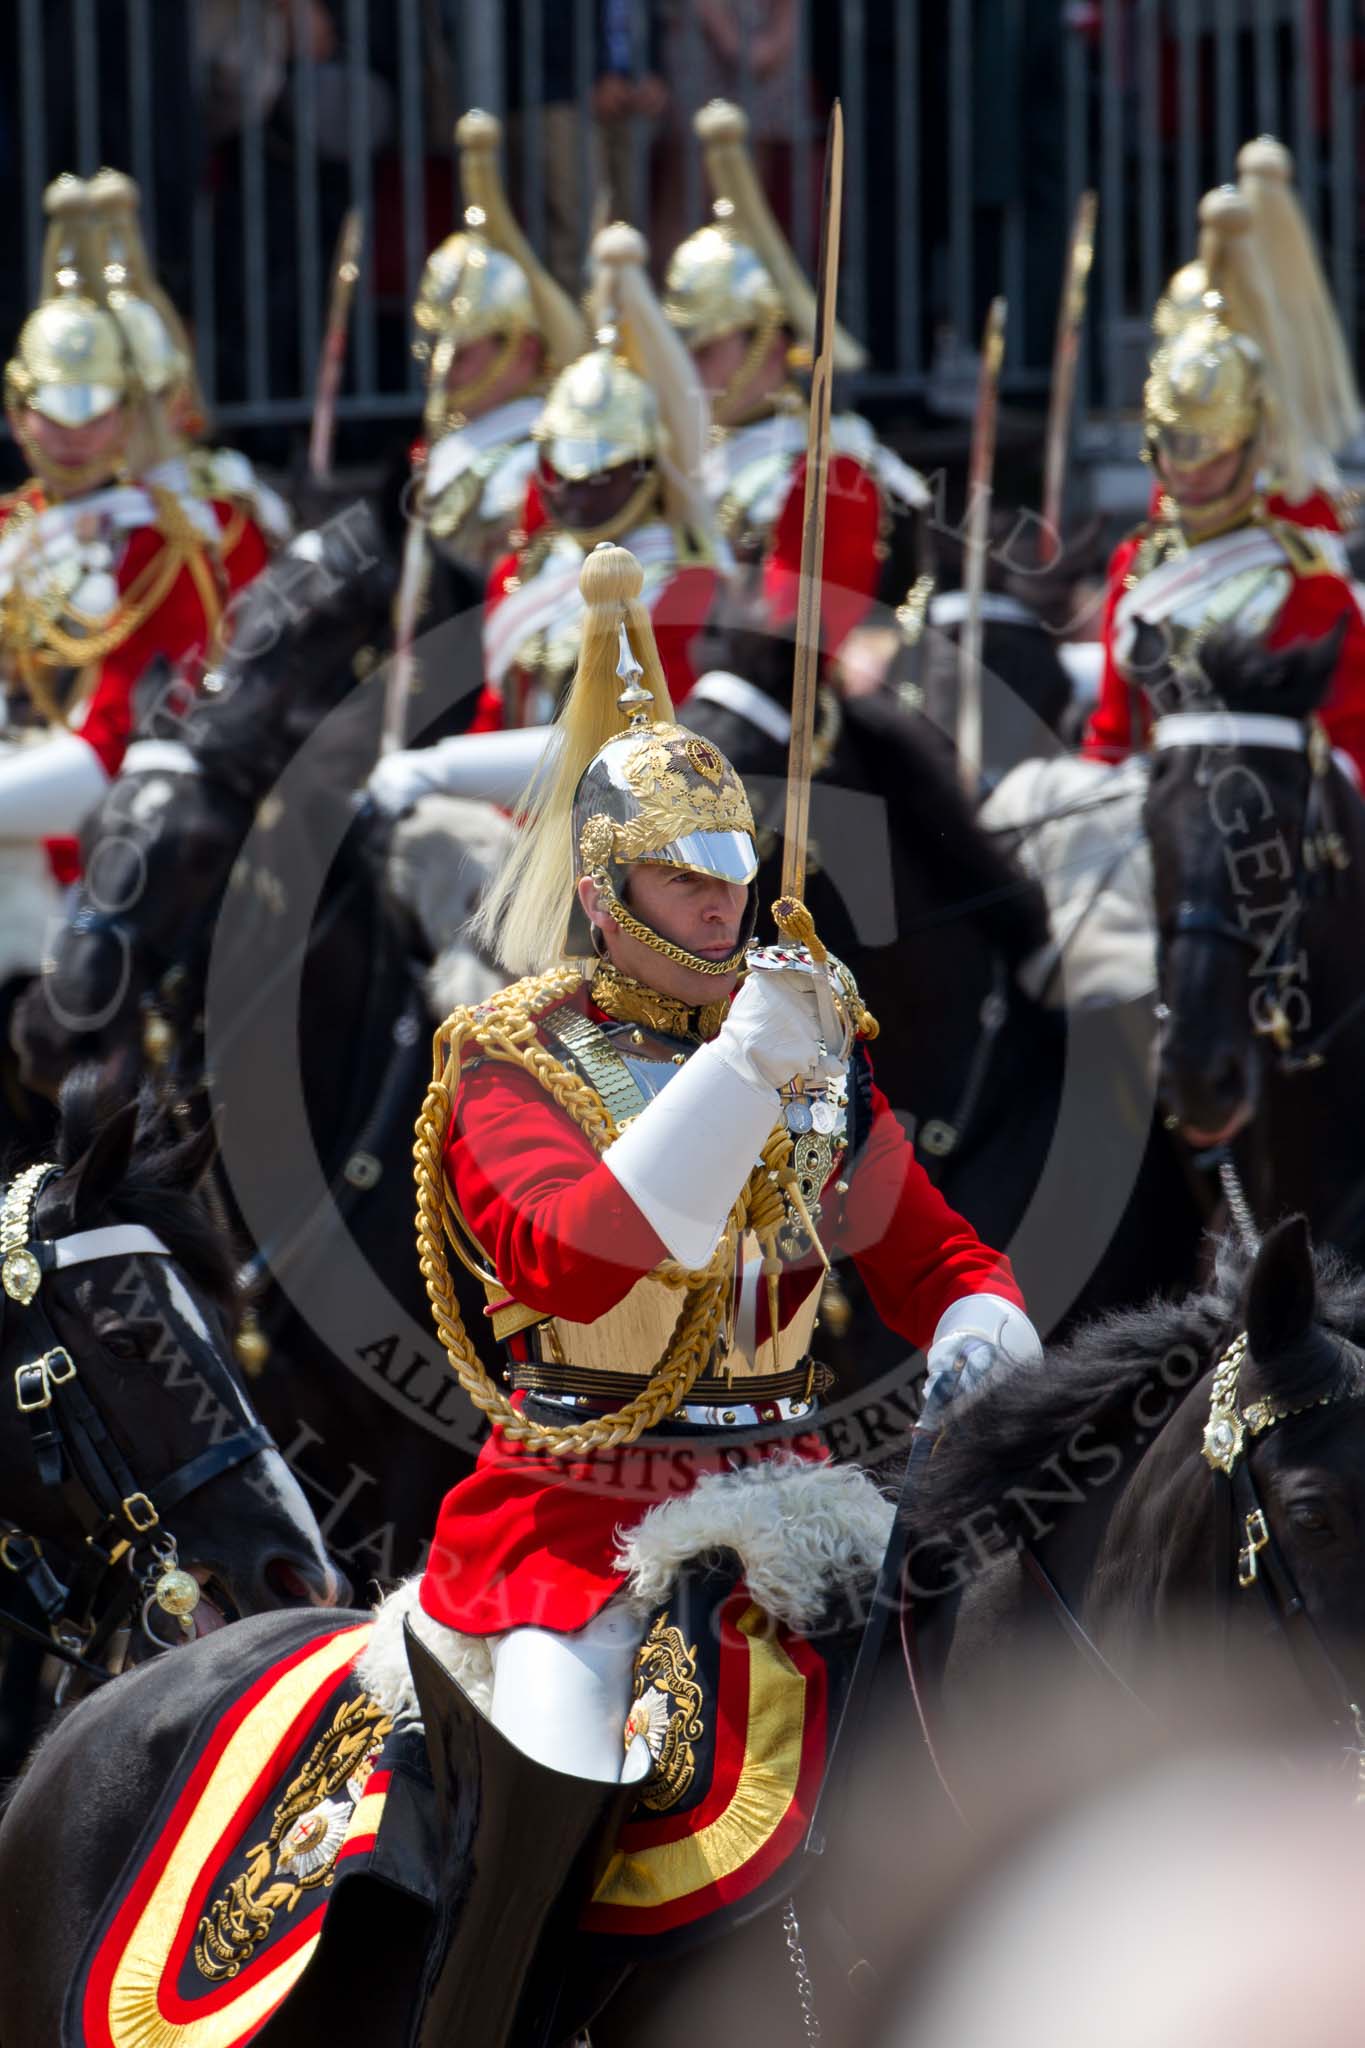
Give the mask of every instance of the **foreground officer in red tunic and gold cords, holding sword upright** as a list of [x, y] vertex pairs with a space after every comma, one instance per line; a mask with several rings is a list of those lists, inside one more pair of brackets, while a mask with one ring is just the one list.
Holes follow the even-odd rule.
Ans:
[[[802, 1434], [821, 1241], [929, 1352], [933, 1399], [1001, 1354], [1040, 1358], [1009, 1262], [876, 1087], [851, 977], [753, 946], [749, 801], [673, 721], [641, 582], [620, 547], [583, 563], [559, 752], [487, 905], [528, 977], [446, 1022], [417, 1145], [424, 1266], [446, 1274], [446, 1229], [508, 1364], [495, 1384], [442, 1325], [495, 1427], [440, 1509], [415, 1626], [487, 1700], [510, 1772], [522, 1753], [612, 1784], [634, 1595], [665, 1559], [731, 1544], [743, 1565], [765, 1489], [808, 1610], [880, 1556], [886, 1503]], [[755, 1425], [784, 1442], [745, 1475], [726, 1438], [747, 1430], [753, 1456]], [[649, 1767], [634, 1735], [626, 1778]]]

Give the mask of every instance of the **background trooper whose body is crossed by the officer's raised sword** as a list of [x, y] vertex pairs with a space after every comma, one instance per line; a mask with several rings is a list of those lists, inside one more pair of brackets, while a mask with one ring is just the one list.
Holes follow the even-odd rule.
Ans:
[[[694, 121], [714, 217], [677, 246], [663, 305], [696, 362], [714, 432], [706, 494], [724, 541], [761, 575], [772, 627], [796, 616], [806, 483], [806, 401], [794, 367], [814, 340], [814, 293], [747, 152], [747, 119], [712, 100]], [[835, 367], [864, 365], [839, 330]], [[825, 647], [835, 653], [878, 592], [892, 516], [929, 502], [923, 477], [857, 414], [837, 414], [825, 526]]]

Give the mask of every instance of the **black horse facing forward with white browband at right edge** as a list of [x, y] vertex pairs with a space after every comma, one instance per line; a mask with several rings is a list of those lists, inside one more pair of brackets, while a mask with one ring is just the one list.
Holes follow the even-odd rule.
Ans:
[[1359, 1257], [1365, 807], [1316, 727], [1338, 649], [1205, 641], [1156, 727], [1146, 831], [1171, 1120], [1234, 1147], [1254, 1214], [1302, 1210]]

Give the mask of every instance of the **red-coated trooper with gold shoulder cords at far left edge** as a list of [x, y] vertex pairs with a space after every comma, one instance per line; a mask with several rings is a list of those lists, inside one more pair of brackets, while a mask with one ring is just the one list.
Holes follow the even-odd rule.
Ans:
[[129, 285], [108, 197], [70, 176], [49, 186], [45, 295], [4, 373], [33, 475], [0, 502], [0, 844], [39, 897], [41, 842], [59, 881], [76, 872], [74, 836], [119, 770], [139, 678], [162, 657], [192, 680], [233, 588], [266, 559], [250, 516], [201, 498], [176, 461], [168, 410], [190, 365]]

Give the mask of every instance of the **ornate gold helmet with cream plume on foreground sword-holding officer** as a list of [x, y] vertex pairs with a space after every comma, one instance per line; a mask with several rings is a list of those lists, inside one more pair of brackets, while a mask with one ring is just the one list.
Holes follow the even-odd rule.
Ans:
[[[583, 877], [630, 938], [702, 975], [733, 975], [753, 934], [759, 862], [749, 799], [724, 754], [675, 723], [641, 590], [643, 571], [628, 549], [604, 543], [585, 555], [583, 639], [555, 727], [553, 768], [520, 805], [526, 823], [479, 913], [483, 936], [514, 973], [591, 950], [577, 899]], [[706, 961], [639, 920], [624, 901], [626, 870], [636, 862], [745, 887], [735, 954]]]

